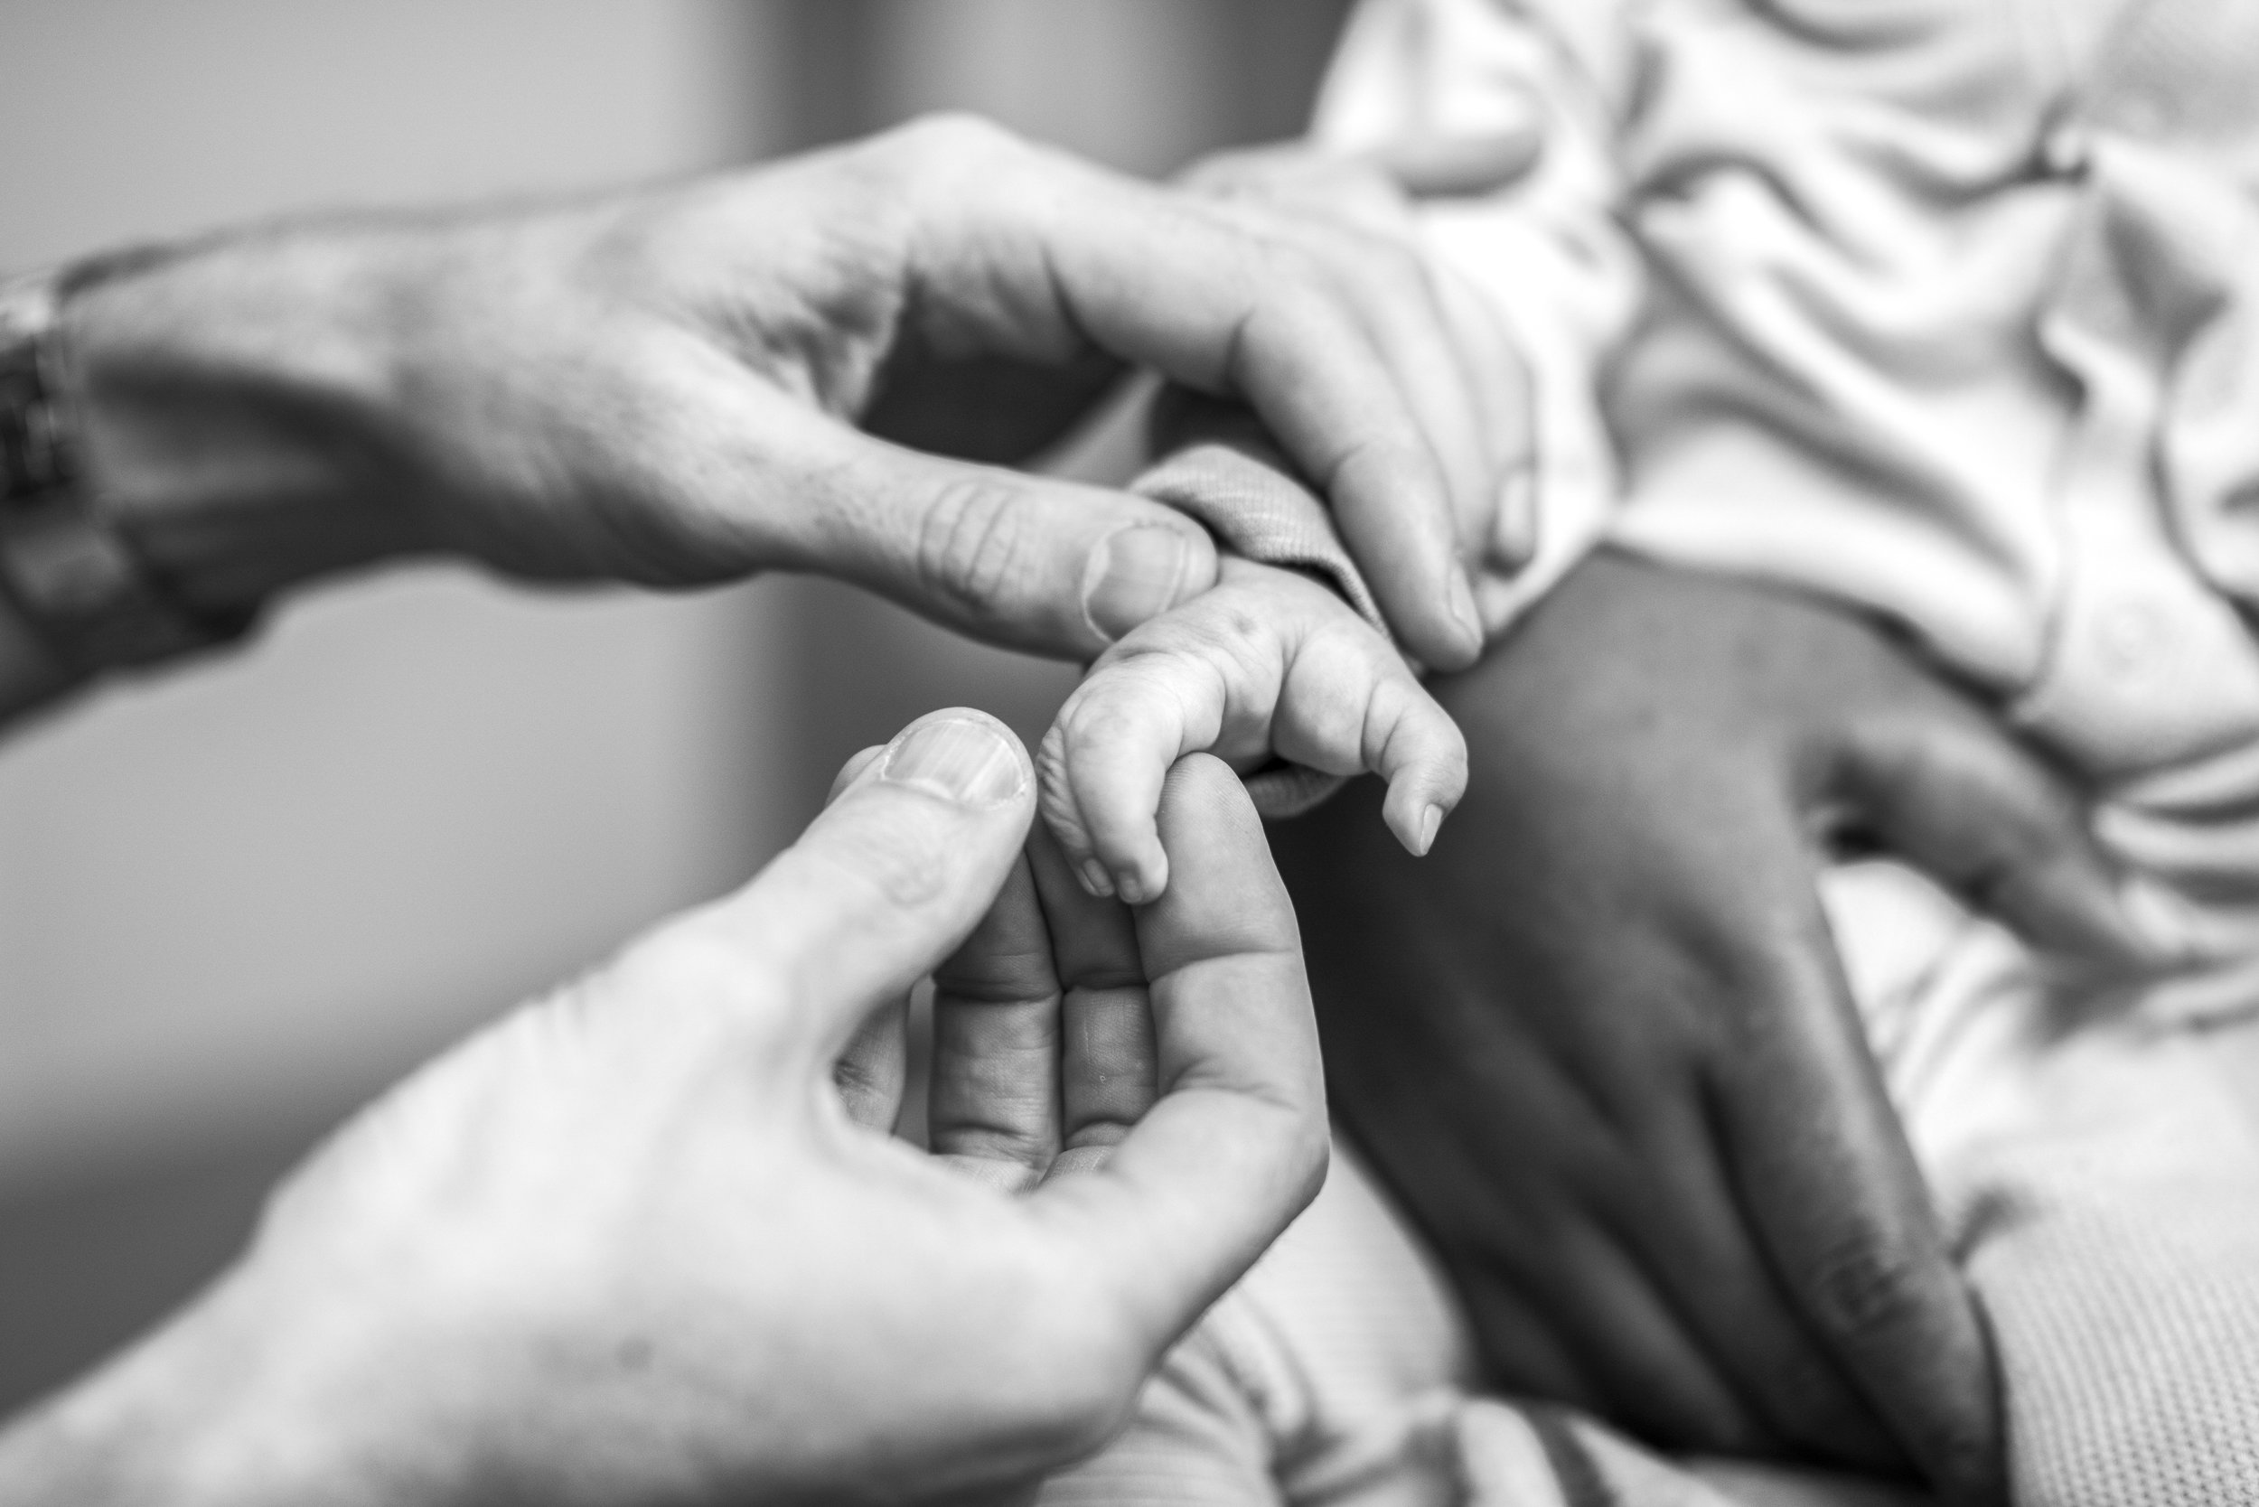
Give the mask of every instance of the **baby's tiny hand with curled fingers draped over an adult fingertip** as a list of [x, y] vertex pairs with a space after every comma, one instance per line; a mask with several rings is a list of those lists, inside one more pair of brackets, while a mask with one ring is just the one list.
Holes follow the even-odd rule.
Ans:
[[1188, 752], [1240, 773], [1272, 757], [1378, 773], [1412, 854], [1466, 791], [1466, 741], [1403, 655], [1310, 576], [1240, 558], [1107, 648], [1044, 734], [1044, 820], [1091, 895], [1148, 904], [1168, 888], [1154, 809]]

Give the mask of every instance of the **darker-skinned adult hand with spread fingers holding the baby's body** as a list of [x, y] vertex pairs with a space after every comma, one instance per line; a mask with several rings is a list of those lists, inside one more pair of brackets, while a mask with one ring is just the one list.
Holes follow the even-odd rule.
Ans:
[[1493, 1380], [1697, 1451], [1999, 1484], [1983, 1329], [1839, 969], [1859, 829], [2033, 942], [2142, 956], [2081, 811], [1861, 619], [1597, 556], [1439, 687], [1414, 863], [1283, 827], [1333, 1084]]

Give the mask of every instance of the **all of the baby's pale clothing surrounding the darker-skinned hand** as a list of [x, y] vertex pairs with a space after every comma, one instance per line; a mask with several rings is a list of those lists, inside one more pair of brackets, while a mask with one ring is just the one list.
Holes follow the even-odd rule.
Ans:
[[[2184, 978], [2076, 999], [1889, 865], [1832, 877], [1832, 922], [1999, 1344], [2017, 1502], [2259, 1502], [2259, 5], [1367, 0], [1317, 131], [1480, 131], [1518, 93], [1536, 181], [1423, 235], [1536, 373], [1523, 603], [1602, 538], [1809, 590], [2085, 779]], [[1236, 1399], [1238, 1487], [1170, 1496], [1154, 1462], [1197, 1451], [1148, 1414], [1071, 1500], [1866, 1500], [1471, 1401], [1434, 1315], [1346, 1164], [1150, 1392]], [[1376, 1360], [1396, 1331], [1430, 1349]], [[1161, 1484], [1109, 1496], [1130, 1455]]]

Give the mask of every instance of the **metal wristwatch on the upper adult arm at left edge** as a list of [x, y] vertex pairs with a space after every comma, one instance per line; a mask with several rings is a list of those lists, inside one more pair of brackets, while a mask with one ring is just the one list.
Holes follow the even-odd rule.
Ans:
[[54, 382], [70, 289], [68, 269], [0, 282], [0, 599], [79, 676], [235, 639], [255, 615], [178, 601], [86, 486]]

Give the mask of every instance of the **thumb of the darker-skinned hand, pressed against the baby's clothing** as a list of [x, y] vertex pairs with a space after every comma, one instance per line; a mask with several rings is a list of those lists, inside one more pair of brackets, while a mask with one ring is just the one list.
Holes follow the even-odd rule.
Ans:
[[2126, 908], [2083, 804], [1974, 707], [1940, 694], [1855, 725], [1839, 786], [1884, 847], [2033, 947], [2112, 972], [2169, 962]]

